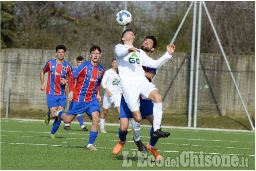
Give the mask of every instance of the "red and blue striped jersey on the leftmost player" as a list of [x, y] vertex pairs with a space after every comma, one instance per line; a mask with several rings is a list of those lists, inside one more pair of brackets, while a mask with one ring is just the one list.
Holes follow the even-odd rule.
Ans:
[[61, 84], [60, 78], [67, 78], [71, 76], [73, 70], [71, 64], [64, 61], [63, 64], [58, 64], [56, 60], [49, 60], [44, 69], [48, 72], [48, 81], [46, 87], [46, 94], [50, 95], [66, 95], [65, 84]]

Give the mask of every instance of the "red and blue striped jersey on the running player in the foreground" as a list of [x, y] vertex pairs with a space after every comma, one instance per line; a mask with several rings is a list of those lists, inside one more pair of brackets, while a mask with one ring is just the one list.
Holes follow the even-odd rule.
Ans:
[[93, 66], [91, 61], [83, 62], [72, 76], [77, 80], [74, 89], [73, 101], [89, 102], [96, 98], [96, 93], [100, 91], [100, 82], [104, 73], [103, 67], [99, 64]]

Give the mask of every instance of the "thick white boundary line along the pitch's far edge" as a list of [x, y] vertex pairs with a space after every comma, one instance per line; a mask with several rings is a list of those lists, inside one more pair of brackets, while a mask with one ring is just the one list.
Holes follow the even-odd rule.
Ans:
[[[1, 119], [6, 119], [6, 118], [1, 118]], [[8, 118], [10, 119], [10, 118]], [[22, 121], [40, 121], [40, 122], [44, 122], [44, 120], [40, 120], [40, 119], [19, 119], [19, 118], [11, 118], [13, 120], [22, 120]], [[76, 123], [79, 124], [79, 122], [72, 122], [72, 123]], [[92, 122], [84, 122], [84, 124], [92, 124]], [[100, 124], [100, 123], [99, 123]], [[120, 126], [120, 124], [108, 124], [105, 123], [105, 125], [108, 126]], [[143, 127], [151, 127], [151, 125], [141, 125]], [[186, 130], [212, 130], [212, 131], [228, 131], [228, 132], [250, 132], [250, 133], [254, 133], [254, 131], [252, 130], [231, 130], [231, 129], [220, 129], [220, 128], [188, 128], [185, 126], [162, 126], [161, 128], [178, 128], [178, 129], [186, 129]]]

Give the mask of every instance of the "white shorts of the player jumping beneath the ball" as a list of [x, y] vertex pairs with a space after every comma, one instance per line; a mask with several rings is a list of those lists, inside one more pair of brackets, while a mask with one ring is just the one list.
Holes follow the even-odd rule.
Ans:
[[157, 90], [152, 82], [122, 87], [123, 97], [131, 111], [139, 110], [139, 95], [148, 99], [151, 91]]

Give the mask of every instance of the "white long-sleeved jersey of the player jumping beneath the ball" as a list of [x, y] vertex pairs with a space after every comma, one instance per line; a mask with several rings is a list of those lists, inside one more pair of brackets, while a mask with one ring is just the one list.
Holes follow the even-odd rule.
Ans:
[[128, 52], [128, 49], [133, 46], [118, 44], [114, 47], [114, 56], [117, 59], [121, 87], [148, 83], [145, 77], [145, 71], [142, 66], [150, 68], [158, 68], [164, 62], [167, 62], [172, 56], [166, 52], [158, 60], [153, 60], [145, 54], [142, 49], [137, 49], [137, 52]]

